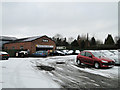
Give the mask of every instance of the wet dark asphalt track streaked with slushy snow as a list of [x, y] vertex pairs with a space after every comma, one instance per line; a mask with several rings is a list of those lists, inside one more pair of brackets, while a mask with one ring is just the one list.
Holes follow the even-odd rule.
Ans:
[[[57, 59], [57, 58], [52, 58]], [[59, 59], [59, 58], [58, 58]], [[65, 58], [64, 58], [65, 59]], [[51, 70], [46, 71], [52, 79], [61, 85], [62, 88], [103, 88], [103, 89], [118, 89], [119, 78], [109, 78], [101, 75], [92, 74], [85, 72], [74, 67], [78, 68], [89, 68], [94, 69], [93, 67], [88, 67], [86, 65], [78, 66], [75, 64], [75, 60], [66, 58], [65, 61], [54, 61], [49, 63], [51, 65]], [[43, 65], [44, 66], [44, 65]], [[74, 67], [73, 67], [74, 66]], [[38, 68], [42, 70], [44, 68]]]

